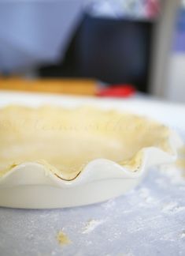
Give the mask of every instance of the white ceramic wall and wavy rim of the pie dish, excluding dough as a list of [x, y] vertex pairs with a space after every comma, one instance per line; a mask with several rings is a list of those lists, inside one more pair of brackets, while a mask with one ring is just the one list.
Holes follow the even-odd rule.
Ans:
[[157, 147], [142, 149], [135, 171], [112, 160], [95, 159], [72, 180], [61, 179], [43, 164], [18, 164], [0, 178], [0, 205], [49, 209], [88, 205], [117, 197], [135, 187], [151, 166], [176, 161], [177, 150], [183, 143], [173, 131], [168, 135], [168, 145], [170, 153]]

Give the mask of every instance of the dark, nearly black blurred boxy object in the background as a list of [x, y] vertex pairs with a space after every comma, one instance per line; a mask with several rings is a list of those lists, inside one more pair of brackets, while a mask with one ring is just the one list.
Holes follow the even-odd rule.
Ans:
[[65, 60], [39, 70], [42, 77], [94, 77], [111, 84], [129, 83], [148, 91], [153, 24], [86, 14]]

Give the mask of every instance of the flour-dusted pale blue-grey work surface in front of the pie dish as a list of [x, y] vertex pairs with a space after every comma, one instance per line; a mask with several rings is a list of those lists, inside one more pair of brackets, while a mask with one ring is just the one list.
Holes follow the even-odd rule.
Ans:
[[[185, 181], [149, 171], [130, 193], [73, 209], [0, 209], [0, 254], [184, 255]], [[72, 241], [61, 246], [57, 232]]]

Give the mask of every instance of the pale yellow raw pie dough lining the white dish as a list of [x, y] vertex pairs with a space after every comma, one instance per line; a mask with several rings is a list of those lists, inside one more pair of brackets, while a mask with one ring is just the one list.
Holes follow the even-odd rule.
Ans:
[[18, 164], [36, 162], [70, 180], [97, 158], [135, 171], [140, 149], [155, 146], [169, 151], [168, 133], [157, 122], [94, 107], [4, 107], [0, 109], [0, 176]]

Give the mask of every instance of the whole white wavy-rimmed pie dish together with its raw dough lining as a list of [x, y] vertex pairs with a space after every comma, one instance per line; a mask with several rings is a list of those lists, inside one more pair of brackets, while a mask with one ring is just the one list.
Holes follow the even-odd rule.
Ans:
[[95, 107], [0, 109], [0, 205], [60, 208], [124, 194], [182, 146], [167, 126]]

